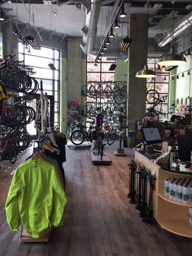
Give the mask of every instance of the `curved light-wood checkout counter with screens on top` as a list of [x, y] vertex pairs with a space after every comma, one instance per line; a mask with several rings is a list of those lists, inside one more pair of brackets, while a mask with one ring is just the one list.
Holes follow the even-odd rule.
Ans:
[[[188, 198], [187, 201], [183, 201], [178, 198], [172, 198], [170, 194], [167, 195], [164, 191], [165, 184], [171, 180], [176, 185], [177, 181], [185, 182], [182, 186], [185, 186], [185, 188], [189, 188], [190, 186], [192, 193], [192, 172], [187, 168], [189, 166], [178, 164], [178, 161], [176, 161], [176, 164], [174, 157], [170, 157], [172, 155], [168, 156], [168, 161], [155, 163], [154, 159], [152, 159], [155, 157], [152, 154], [148, 154], [150, 153], [148, 149], [150, 149], [150, 145], [153, 143], [162, 143], [161, 134], [157, 127], [143, 128], [143, 141], [144, 148], [134, 150], [134, 159], [138, 168], [145, 166], [148, 172], [156, 177], [155, 189], [153, 191], [154, 218], [162, 228], [180, 236], [192, 237], [192, 221], [189, 221], [189, 212], [192, 212], [191, 200]], [[180, 159], [186, 158], [190, 161], [190, 153], [192, 155], [192, 138], [181, 137], [179, 150]], [[172, 164], [173, 162], [174, 164]], [[187, 187], [186, 182], [188, 184]], [[170, 187], [168, 186], [168, 188]], [[170, 193], [170, 189], [168, 189], [168, 193]], [[179, 193], [177, 193], [178, 195]], [[192, 220], [192, 215], [190, 220]]]

